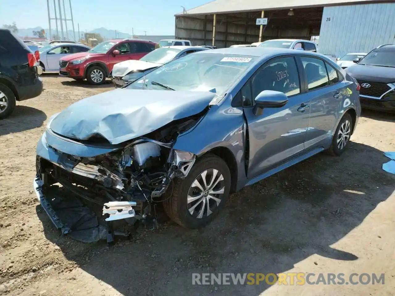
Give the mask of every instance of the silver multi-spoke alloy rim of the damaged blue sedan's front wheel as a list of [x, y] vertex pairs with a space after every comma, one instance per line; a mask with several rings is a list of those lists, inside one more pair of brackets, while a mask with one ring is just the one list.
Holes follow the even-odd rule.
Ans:
[[186, 200], [189, 214], [198, 219], [213, 214], [225, 192], [224, 176], [216, 169], [201, 172], [192, 182]]

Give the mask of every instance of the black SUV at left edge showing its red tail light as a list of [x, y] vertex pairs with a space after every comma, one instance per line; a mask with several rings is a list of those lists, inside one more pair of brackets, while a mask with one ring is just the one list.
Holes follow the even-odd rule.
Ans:
[[0, 29], [0, 119], [8, 117], [16, 101], [43, 91], [39, 52], [33, 53], [19, 37]]

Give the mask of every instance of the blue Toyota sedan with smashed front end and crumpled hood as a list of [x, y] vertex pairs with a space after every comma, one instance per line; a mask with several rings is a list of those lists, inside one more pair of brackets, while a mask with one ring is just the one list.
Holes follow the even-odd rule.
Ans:
[[[341, 80], [310, 91], [303, 59], [325, 65], [314, 81]], [[179, 225], [204, 227], [230, 192], [323, 150], [341, 155], [359, 118], [358, 89], [310, 52], [182, 56], [52, 116], [34, 189], [56, 228], [82, 242], [127, 236], [122, 223], [156, 227], [157, 204]]]

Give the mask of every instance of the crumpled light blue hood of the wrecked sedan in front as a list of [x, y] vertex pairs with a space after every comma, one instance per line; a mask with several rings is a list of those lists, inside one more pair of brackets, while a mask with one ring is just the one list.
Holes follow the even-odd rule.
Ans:
[[60, 112], [50, 129], [64, 137], [102, 136], [119, 144], [154, 131], [173, 120], [203, 111], [215, 94], [120, 88], [78, 101]]

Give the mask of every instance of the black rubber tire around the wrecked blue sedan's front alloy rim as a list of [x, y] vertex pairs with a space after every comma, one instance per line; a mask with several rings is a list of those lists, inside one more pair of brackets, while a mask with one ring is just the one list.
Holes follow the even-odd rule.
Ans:
[[[211, 180], [210, 177], [213, 176], [213, 172], [214, 172], [213, 169], [218, 170], [218, 173], [216, 174], [216, 178], [220, 177], [221, 176], [220, 174], [222, 174], [223, 176], [223, 180], [221, 180], [220, 182], [218, 182], [216, 186], [211, 188], [212, 190], [215, 189], [214, 191], [218, 191], [218, 189], [223, 188], [222, 194], [213, 194], [213, 197], [217, 198], [217, 200], [218, 199], [220, 200], [219, 204], [216, 202], [215, 199], [210, 198], [211, 195], [207, 196], [203, 194], [201, 195], [201, 198], [190, 202], [188, 206], [187, 204], [188, 194], [192, 196], [192, 193], [194, 193], [195, 190], [201, 193], [209, 192], [209, 190], [202, 191], [198, 189], [198, 187], [192, 187], [192, 184], [196, 180], [196, 178], [201, 178], [201, 174], [205, 171], [207, 173], [206, 180], [207, 178], [209, 178], [209, 182], [210, 182]], [[216, 180], [216, 178], [214, 178], [214, 180]], [[201, 179], [201, 181], [202, 180], [203, 179]], [[205, 189], [203, 183], [200, 182], [199, 184], [201, 184], [201, 187]], [[205, 227], [207, 224], [209, 224], [224, 206], [226, 200], [229, 197], [231, 175], [230, 175], [229, 167], [224, 160], [222, 160], [220, 157], [216, 155], [207, 154], [195, 162], [194, 166], [192, 167], [186, 178], [174, 180], [173, 185], [174, 185], [173, 195], [169, 199], [163, 202], [163, 206], [166, 214], [169, 216], [171, 220], [173, 220], [175, 223], [183, 227], [190, 229], [197, 229], [197, 228]], [[171, 190], [171, 187], [169, 187], [169, 189]], [[207, 215], [207, 201], [209, 205], [209, 210], [211, 212], [211, 214], [209, 215]], [[199, 218], [198, 214], [200, 213], [200, 210], [202, 210], [203, 205], [204, 205], [204, 209], [202, 212], [203, 216]], [[193, 211], [192, 214], [190, 214], [190, 210], [194, 206], [195, 206], [195, 210]]]

